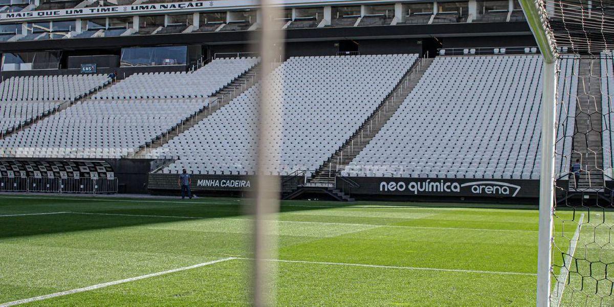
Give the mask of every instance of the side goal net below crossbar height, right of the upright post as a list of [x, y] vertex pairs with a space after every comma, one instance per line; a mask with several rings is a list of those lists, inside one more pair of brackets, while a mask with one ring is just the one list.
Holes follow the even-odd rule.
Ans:
[[612, 53], [559, 60], [554, 306], [614, 305], [613, 69]]

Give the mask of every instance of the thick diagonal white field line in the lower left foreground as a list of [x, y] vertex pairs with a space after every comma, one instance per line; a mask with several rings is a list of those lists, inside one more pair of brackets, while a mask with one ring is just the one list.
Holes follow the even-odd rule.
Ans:
[[118, 285], [118, 284], [124, 284], [126, 282], [139, 281], [141, 279], [152, 278], [152, 277], [161, 276], [161, 275], [170, 274], [170, 273], [175, 273], [175, 272], [179, 272], [179, 271], [192, 270], [192, 269], [195, 269], [195, 268], [200, 268], [201, 266], [212, 265], [214, 263], [225, 262], [225, 261], [233, 260], [233, 259], [236, 259], [236, 257], [228, 257], [228, 258], [217, 259], [217, 260], [213, 260], [213, 261], [209, 261], [209, 262], [199, 263], [197, 265], [185, 266], [183, 268], [176, 268], [176, 269], [173, 269], [173, 270], [161, 271], [161, 272], [158, 272], [158, 273], [152, 273], [152, 274], [137, 276], [137, 277], [133, 277], [133, 278], [122, 279], [120, 281], [104, 282], [103, 284], [97, 284], [97, 285], [94, 285], [94, 286], [89, 286], [89, 287], [84, 287], [84, 288], [79, 288], [79, 289], [73, 289], [73, 290], [57, 292], [57, 293], [52, 293], [52, 294], [47, 294], [47, 295], [41, 295], [40, 297], [26, 298], [25, 300], [10, 301], [9, 303], [0, 304], [0, 307], [15, 306], [15, 305], [20, 305], [20, 304], [25, 304], [25, 303], [31, 303], [33, 301], [41, 301], [41, 300], [47, 300], [49, 298], [61, 297], [63, 295], [70, 295], [70, 294], [79, 293], [79, 292], [86, 292], [86, 291], [96, 290], [96, 289], [100, 289], [100, 288], [104, 288], [104, 287], [115, 286], [115, 285]]

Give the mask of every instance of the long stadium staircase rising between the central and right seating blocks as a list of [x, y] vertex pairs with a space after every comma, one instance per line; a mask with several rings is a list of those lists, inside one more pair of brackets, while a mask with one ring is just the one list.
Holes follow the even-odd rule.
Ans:
[[360, 128], [314, 172], [309, 182], [333, 185], [335, 177], [343, 171], [373, 139], [375, 134], [391, 119], [411, 90], [418, 84], [424, 72], [433, 63], [433, 58], [419, 58], [405, 73], [391, 93], [379, 104], [373, 114], [362, 123]]

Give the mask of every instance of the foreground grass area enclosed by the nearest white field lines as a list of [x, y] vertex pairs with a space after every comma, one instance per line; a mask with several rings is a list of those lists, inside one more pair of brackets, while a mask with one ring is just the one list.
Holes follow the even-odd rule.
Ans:
[[[248, 261], [228, 261], [33, 306], [248, 306], [249, 265]], [[278, 271], [278, 306], [535, 304], [535, 276], [284, 262], [279, 263]]]

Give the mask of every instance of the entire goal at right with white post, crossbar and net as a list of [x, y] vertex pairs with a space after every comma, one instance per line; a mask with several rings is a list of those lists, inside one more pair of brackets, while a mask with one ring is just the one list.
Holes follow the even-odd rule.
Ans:
[[[607, 122], [613, 99], [607, 87], [613, 78], [608, 50], [614, 44], [614, 2], [519, 2], [543, 55], [537, 306], [609, 305], [614, 249], [607, 220], [612, 190], [605, 181], [612, 180], [606, 140], [612, 138]], [[575, 160], [580, 160], [578, 177], [570, 173]], [[554, 195], [559, 188], [565, 195], [558, 206], [570, 209], [559, 208], [560, 214]], [[575, 225], [575, 233], [569, 225]]]

